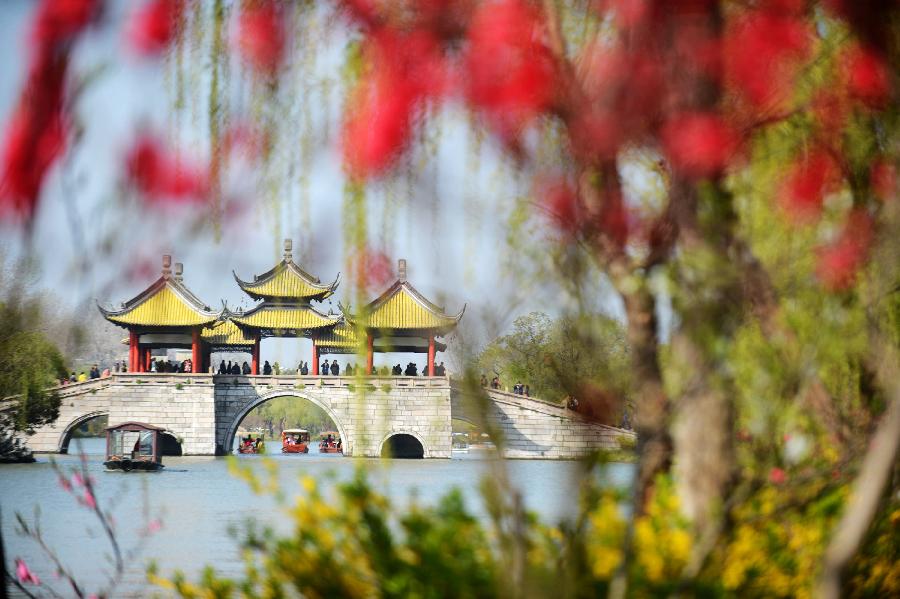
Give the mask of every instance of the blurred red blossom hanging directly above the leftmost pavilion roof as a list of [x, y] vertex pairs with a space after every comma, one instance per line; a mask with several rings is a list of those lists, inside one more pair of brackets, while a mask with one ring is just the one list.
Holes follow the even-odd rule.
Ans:
[[150, 200], [202, 201], [209, 190], [206, 170], [179, 164], [148, 135], [129, 150], [125, 166], [130, 182]]

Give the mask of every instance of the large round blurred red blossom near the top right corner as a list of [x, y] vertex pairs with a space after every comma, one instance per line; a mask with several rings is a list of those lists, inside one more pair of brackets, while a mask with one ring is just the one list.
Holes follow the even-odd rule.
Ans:
[[753, 10], [737, 17], [723, 44], [729, 83], [757, 108], [784, 101], [811, 38], [802, 18], [782, 11]]

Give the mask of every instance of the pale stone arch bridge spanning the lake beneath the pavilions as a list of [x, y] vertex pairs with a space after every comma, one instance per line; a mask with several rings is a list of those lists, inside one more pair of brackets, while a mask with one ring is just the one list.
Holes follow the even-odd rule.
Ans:
[[[360, 388], [364, 387], [364, 388]], [[343, 439], [345, 455], [380, 456], [395, 435], [414, 437], [426, 458], [449, 458], [451, 418], [476, 421], [448, 377], [237, 376], [114, 374], [59, 390], [57, 421], [28, 439], [36, 452], [64, 453], [72, 432], [107, 416], [110, 424], [139, 421], [164, 427], [185, 455], [228, 453], [241, 420], [276, 397], [298, 397], [322, 408]], [[502, 431], [512, 458], [569, 459], [616, 449], [633, 433], [596, 424], [540, 400], [488, 391], [481, 410]]]

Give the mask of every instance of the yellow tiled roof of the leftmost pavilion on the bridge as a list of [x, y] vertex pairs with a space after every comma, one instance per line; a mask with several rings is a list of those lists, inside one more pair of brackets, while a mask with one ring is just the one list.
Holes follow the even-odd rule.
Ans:
[[104, 315], [108, 320], [120, 325], [175, 327], [206, 325], [214, 322], [217, 317], [192, 305], [182, 294], [177, 293], [169, 282], [159, 286], [146, 298], [139, 298], [140, 296], [136, 301], [132, 300], [135, 301], [133, 306], [126, 304], [127, 307], [122, 310], [103, 310]]

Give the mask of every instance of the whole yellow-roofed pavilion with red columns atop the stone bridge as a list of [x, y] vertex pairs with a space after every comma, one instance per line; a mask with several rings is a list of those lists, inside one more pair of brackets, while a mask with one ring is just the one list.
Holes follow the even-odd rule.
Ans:
[[259, 374], [260, 341], [266, 337], [303, 337], [312, 340], [312, 374], [319, 374], [323, 354], [366, 352], [366, 372], [372, 373], [375, 352], [427, 353], [428, 376], [435, 374], [435, 354], [446, 345], [436, 337], [459, 323], [465, 306], [448, 315], [406, 279], [406, 260], [400, 260], [397, 280], [377, 299], [351, 314], [323, 314], [321, 302], [337, 289], [340, 275], [322, 283], [293, 261], [292, 242], [284, 242], [284, 256], [271, 270], [238, 286], [259, 303], [248, 310], [215, 312], [184, 285], [182, 265], [170, 270], [171, 256], [163, 256], [162, 276], [121, 309], [98, 306], [110, 322], [128, 329], [129, 370], [146, 372], [150, 352], [159, 348], [191, 348], [193, 372], [206, 372], [217, 351], [252, 355], [251, 374]]

